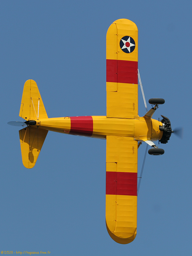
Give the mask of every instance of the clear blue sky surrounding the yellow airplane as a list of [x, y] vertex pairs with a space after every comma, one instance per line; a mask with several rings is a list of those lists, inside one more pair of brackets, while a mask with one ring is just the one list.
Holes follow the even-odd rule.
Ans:
[[[0, 251], [50, 255], [190, 255], [190, 1], [1, 1]], [[139, 30], [146, 100], [174, 134], [162, 156], [147, 154], [134, 242], [115, 243], [105, 227], [106, 141], [49, 132], [38, 162], [21, 160], [18, 116], [23, 85], [37, 82], [48, 117], [106, 115], [106, 33], [120, 18]], [[148, 104], [148, 109], [150, 105]], [[145, 114], [139, 89], [139, 115]], [[188, 139], [190, 139], [188, 137]], [[139, 148], [138, 173], [145, 145]]]

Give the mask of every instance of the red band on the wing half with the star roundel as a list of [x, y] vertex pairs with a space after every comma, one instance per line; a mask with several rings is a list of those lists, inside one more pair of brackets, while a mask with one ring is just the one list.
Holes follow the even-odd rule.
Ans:
[[107, 82], [138, 84], [138, 62], [129, 60], [106, 60]]

